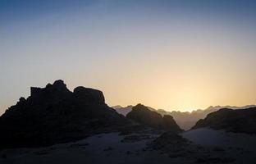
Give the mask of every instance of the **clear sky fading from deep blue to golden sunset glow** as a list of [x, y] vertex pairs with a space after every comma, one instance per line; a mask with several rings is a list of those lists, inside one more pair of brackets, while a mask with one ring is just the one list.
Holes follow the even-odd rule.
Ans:
[[0, 114], [62, 79], [167, 111], [256, 103], [253, 0], [0, 0]]

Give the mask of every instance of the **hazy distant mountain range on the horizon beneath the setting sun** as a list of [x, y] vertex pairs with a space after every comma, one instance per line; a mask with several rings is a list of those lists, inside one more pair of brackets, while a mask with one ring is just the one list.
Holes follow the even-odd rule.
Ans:
[[[114, 108], [118, 113], [126, 116], [127, 113], [131, 111], [133, 106], [127, 106], [127, 107], [121, 107], [121, 106], [115, 106], [112, 107]], [[211, 112], [217, 112], [219, 109], [222, 108], [229, 108], [229, 109], [245, 109], [249, 107], [256, 107], [255, 105], [248, 105], [244, 107], [235, 107], [235, 106], [211, 106], [206, 109], [198, 109], [193, 112], [177, 112], [177, 111], [172, 111], [172, 112], [167, 112], [166, 110], [163, 109], [154, 109], [153, 107], [148, 107], [149, 110], [158, 112], [162, 116], [164, 115], [171, 115], [175, 119], [178, 125], [180, 125], [181, 129], [183, 130], [190, 130], [197, 121], [200, 119], [205, 118], [209, 113]]]

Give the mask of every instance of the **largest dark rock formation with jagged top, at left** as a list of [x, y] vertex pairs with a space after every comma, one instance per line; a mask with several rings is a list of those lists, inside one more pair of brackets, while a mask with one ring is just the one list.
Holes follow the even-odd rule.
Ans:
[[31, 87], [29, 98], [20, 98], [0, 117], [0, 148], [65, 143], [129, 124], [105, 104], [101, 91], [77, 87], [71, 92], [57, 80], [43, 89]]

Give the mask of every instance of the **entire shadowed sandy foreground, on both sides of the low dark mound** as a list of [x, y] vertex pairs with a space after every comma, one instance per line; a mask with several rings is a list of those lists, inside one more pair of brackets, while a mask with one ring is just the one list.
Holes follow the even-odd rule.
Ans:
[[[110, 133], [98, 134], [77, 142], [57, 144], [46, 148], [5, 149], [0, 151], [0, 163], [220, 163], [220, 161], [214, 162], [214, 160], [213, 162], [203, 161], [200, 159], [202, 154], [215, 157], [231, 155], [235, 159], [235, 161], [223, 163], [256, 163], [255, 136], [229, 134], [224, 131], [207, 129], [190, 130], [182, 135], [195, 144], [203, 145], [206, 148], [205, 152], [175, 157], [170, 153], [162, 153], [161, 150], [146, 149], [147, 144], [158, 137], [156, 134], [119, 135]], [[185, 152], [190, 152], [189, 147], [185, 149]]]

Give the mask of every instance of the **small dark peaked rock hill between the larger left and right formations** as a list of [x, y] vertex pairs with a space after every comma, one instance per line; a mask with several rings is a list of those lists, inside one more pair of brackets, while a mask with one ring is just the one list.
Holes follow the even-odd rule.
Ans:
[[171, 130], [181, 132], [181, 128], [176, 124], [172, 116], [161, 116], [158, 112], [153, 112], [142, 104], [132, 108], [126, 115], [127, 118], [141, 125], [146, 125], [155, 129]]

